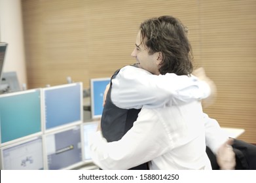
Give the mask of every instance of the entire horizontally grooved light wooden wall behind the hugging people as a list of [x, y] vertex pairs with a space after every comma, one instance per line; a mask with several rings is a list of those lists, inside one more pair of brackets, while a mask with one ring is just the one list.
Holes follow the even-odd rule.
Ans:
[[242, 127], [240, 139], [256, 143], [256, 1], [22, 0], [29, 88], [66, 82], [89, 88], [134, 63], [141, 21], [164, 14], [189, 27], [194, 65], [217, 85], [205, 111], [225, 127]]

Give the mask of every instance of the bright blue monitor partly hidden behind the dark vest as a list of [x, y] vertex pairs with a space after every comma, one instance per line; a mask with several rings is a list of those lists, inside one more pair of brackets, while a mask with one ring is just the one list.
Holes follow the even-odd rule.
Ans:
[[90, 80], [92, 119], [100, 118], [102, 115], [103, 95], [110, 79], [111, 78], [92, 78]]

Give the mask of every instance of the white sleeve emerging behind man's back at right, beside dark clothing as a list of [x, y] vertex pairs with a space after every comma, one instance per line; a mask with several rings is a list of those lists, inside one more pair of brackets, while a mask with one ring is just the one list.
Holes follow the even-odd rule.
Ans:
[[204, 127], [206, 131], [206, 146], [208, 146], [214, 154], [217, 154], [217, 150], [229, 139], [229, 136], [221, 129], [216, 120], [210, 118], [205, 113]]

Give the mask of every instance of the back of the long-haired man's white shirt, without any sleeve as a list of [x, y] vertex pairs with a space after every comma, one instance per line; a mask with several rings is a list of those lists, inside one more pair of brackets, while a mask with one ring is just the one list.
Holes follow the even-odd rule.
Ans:
[[137, 120], [155, 118], [159, 126], [149, 124], [154, 126], [155, 139], [162, 147], [161, 155], [158, 154], [160, 156], [152, 156], [150, 169], [211, 169], [206, 154], [202, 114], [198, 101], [165, 108], [141, 109]]

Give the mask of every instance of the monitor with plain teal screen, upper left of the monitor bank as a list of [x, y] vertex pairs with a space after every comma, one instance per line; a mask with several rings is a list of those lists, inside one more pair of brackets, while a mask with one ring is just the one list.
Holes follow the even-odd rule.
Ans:
[[39, 135], [41, 132], [41, 90], [0, 95], [0, 145]]

